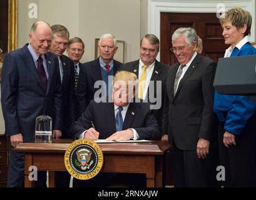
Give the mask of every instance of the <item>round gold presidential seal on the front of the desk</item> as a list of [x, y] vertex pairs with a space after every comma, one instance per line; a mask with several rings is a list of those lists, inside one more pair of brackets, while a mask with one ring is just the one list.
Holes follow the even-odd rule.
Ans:
[[80, 180], [94, 178], [103, 166], [103, 153], [95, 141], [78, 139], [66, 149], [64, 163], [71, 176]]

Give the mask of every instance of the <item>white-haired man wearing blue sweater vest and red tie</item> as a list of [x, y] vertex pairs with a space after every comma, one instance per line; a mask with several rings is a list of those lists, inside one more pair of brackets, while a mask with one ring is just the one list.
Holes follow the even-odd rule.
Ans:
[[[97, 97], [108, 96], [111, 94], [111, 83], [113, 76], [117, 73], [121, 63], [115, 61], [115, 55], [118, 47], [113, 35], [106, 33], [100, 37], [98, 44], [100, 57], [88, 63], [81, 64], [78, 79], [78, 88], [76, 97], [78, 99], [79, 116], [85, 111], [91, 99], [95, 98], [98, 86], [95, 83], [101, 81], [101, 90]], [[109, 89], [110, 88], [110, 89]]]

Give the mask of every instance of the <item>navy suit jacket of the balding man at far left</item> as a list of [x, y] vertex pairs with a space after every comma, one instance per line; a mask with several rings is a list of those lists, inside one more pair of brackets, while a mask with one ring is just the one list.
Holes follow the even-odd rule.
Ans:
[[53, 129], [61, 130], [61, 84], [58, 59], [46, 53], [48, 85], [43, 88], [28, 44], [6, 55], [1, 83], [1, 103], [6, 135], [21, 133], [23, 141], [34, 141], [35, 122], [40, 115], [53, 118]]

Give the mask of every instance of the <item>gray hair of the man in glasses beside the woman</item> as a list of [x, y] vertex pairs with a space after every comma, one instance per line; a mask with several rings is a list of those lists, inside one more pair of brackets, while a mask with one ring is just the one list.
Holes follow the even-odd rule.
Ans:
[[197, 32], [195, 32], [192, 27], [180, 27], [176, 31], [173, 32], [172, 35], [172, 41], [175, 41], [178, 39], [178, 37], [184, 35], [185, 36], [185, 41], [189, 44], [192, 45], [193, 42], [197, 42]]

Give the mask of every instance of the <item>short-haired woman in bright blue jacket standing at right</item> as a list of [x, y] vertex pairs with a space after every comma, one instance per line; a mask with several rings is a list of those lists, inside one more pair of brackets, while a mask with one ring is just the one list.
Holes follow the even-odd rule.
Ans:
[[[232, 8], [222, 14], [225, 58], [256, 54], [248, 35], [250, 12]], [[228, 76], [228, 74], [227, 74]], [[247, 96], [219, 94], [215, 91], [213, 110], [218, 116], [220, 165], [225, 167], [225, 187], [256, 186], [256, 105]]]

